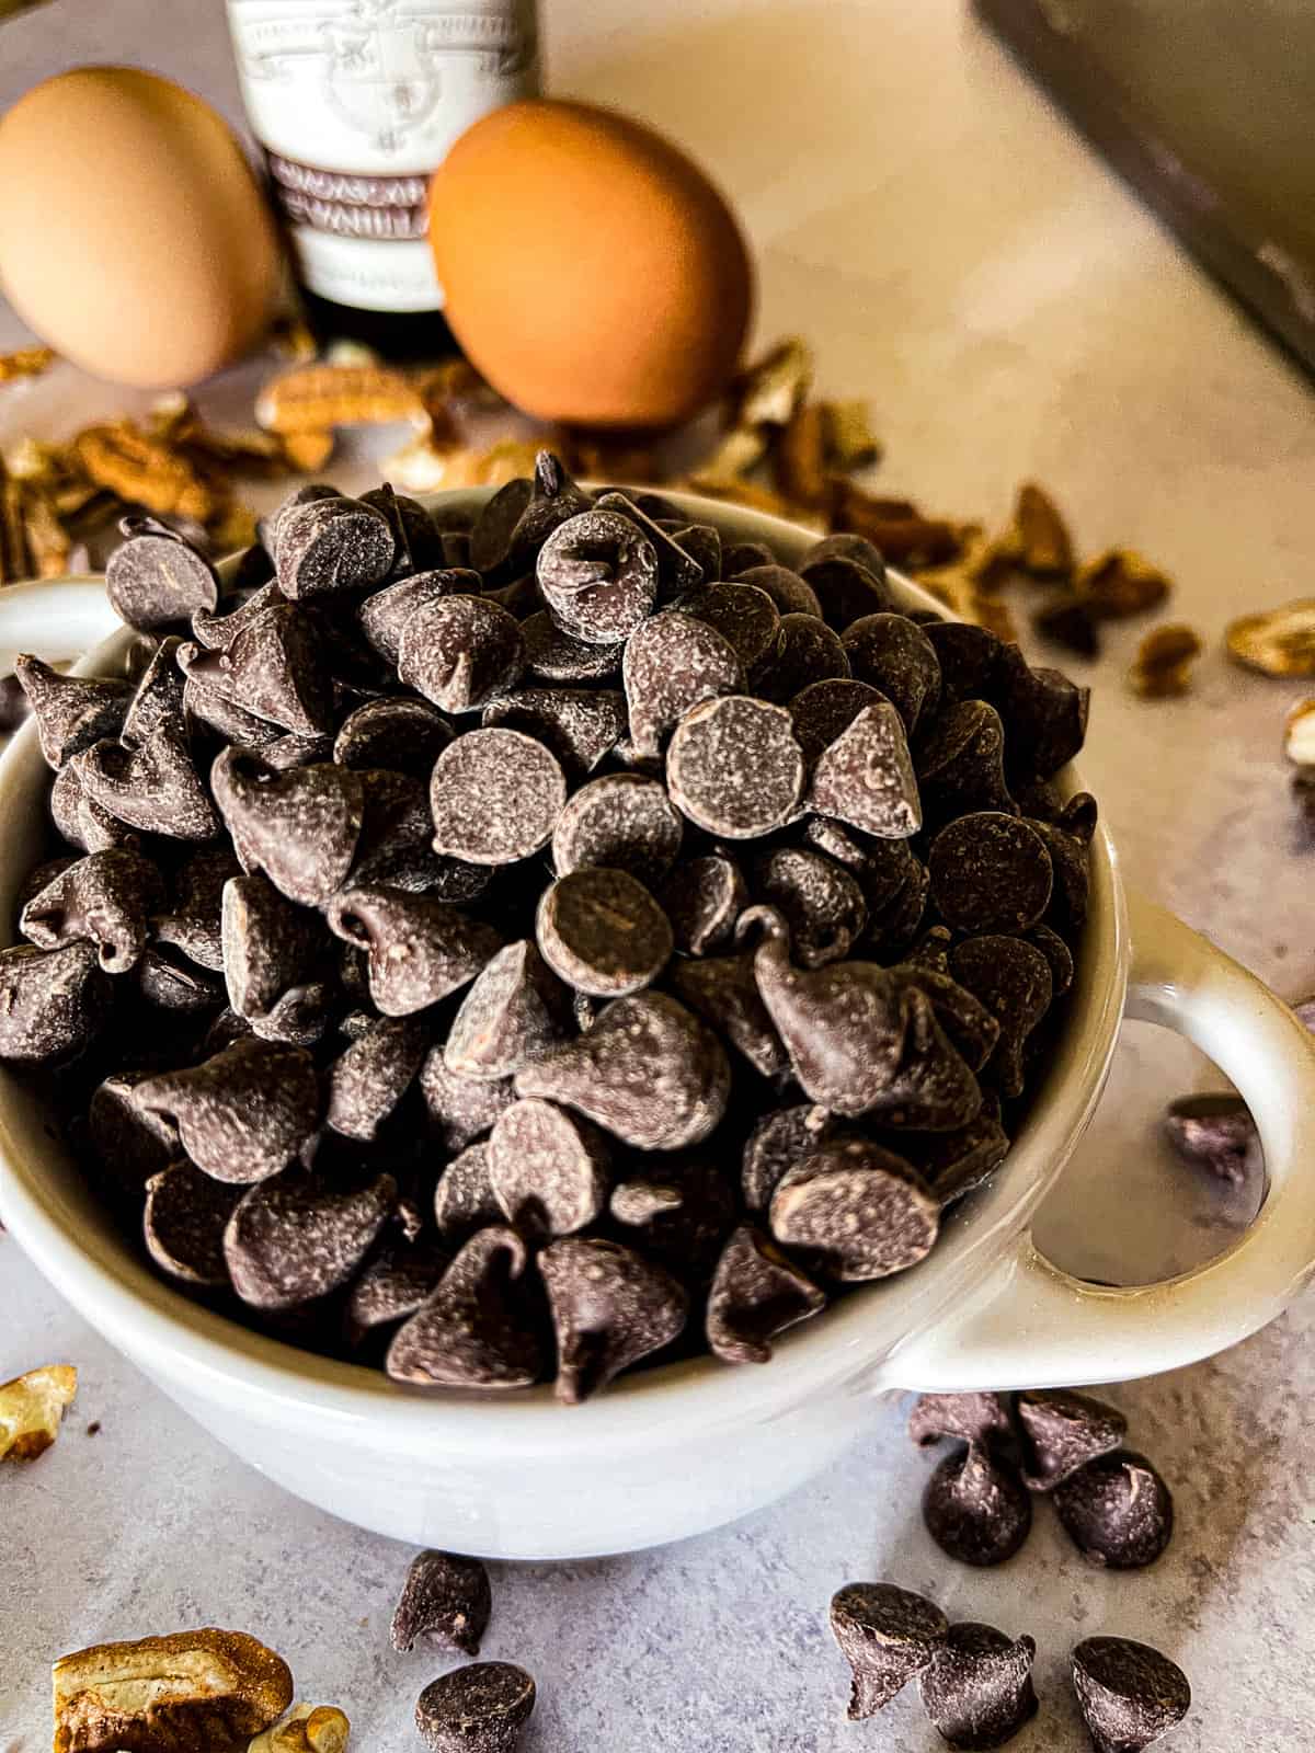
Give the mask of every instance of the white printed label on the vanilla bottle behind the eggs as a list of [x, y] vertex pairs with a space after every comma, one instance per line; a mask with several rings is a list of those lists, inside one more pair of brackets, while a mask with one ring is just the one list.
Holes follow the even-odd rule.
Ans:
[[242, 96], [303, 284], [435, 310], [430, 174], [538, 89], [533, 0], [228, 0]]

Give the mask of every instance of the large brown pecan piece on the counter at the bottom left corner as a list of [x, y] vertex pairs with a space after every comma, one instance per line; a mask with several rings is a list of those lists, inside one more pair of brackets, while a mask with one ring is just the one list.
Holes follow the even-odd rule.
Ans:
[[238, 1753], [293, 1702], [281, 1657], [214, 1629], [93, 1644], [51, 1678], [54, 1753]]

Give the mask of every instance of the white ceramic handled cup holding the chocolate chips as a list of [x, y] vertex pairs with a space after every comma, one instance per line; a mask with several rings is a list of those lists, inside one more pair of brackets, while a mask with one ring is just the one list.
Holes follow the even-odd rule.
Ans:
[[[451, 498], [473, 505], [484, 494]], [[766, 540], [785, 561], [812, 540], [759, 514], [682, 503], [729, 540]], [[913, 586], [901, 594], [928, 607]], [[63, 656], [110, 622], [95, 584], [4, 593], [0, 661], [5, 647]], [[123, 649], [123, 633], [105, 640], [82, 671], [114, 666]], [[47, 782], [28, 726], [0, 761], [4, 941], [40, 852]], [[1029, 1218], [1092, 1115], [1124, 1013], [1182, 1031], [1238, 1083], [1261, 1127], [1269, 1192], [1224, 1255], [1113, 1290], [1047, 1262]], [[1304, 1029], [1176, 919], [1129, 901], [1098, 833], [1071, 1015], [1008, 1159], [956, 1208], [928, 1260], [794, 1329], [763, 1367], [672, 1364], [561, 1408], [549, 1388], [494, 1402], [426, 1397], [259, 1338], [198, 1308], [124, 1246], [40, 1103], [2, 1069], [0, 1211], [88, 1322], [289, 1492], [414, 1544], [575, 1558], [696, 1534], [780, 1497], [842, 1453], [889, 1388], [1127, 1380], [1241, 1339], [1315, 1271], [1313, 1108]]]

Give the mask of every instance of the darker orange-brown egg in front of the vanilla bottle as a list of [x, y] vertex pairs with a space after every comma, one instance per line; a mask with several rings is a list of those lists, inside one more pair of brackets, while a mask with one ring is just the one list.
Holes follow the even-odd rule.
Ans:
[[666, 426], [717, 396], [752, 266], [703, 172], [587, 103], [510, 103], [435, 172], [430, 237], [472, 363], [544, 421]]

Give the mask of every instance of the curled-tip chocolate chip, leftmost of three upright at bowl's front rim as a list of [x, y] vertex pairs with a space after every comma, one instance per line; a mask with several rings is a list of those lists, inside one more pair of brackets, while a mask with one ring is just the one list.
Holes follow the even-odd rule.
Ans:
[[515, 1297], [526, 1262], [515, 1231], [491, 1225], [473, 1234], [438, 1288], [393, 1336], [384, 1364], [389, 1376], [414, 1387], [487, 1392], [538, 1381], [544, 1346]]

